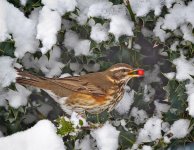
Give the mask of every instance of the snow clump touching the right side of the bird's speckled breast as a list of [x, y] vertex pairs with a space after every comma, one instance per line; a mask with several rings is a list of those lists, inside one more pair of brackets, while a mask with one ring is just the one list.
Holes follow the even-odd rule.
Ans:
[[125, 93], [123, 95], [123, 98], [121, 99], [121, 101], [115, 107], [116, 111], [118, 111], [119, 114], [128, 113], [131, 105], [134, 102], [134, 91], [131, 90], [129, 92], [129, 89], [130, 88], [128, 86], [125, 87]]

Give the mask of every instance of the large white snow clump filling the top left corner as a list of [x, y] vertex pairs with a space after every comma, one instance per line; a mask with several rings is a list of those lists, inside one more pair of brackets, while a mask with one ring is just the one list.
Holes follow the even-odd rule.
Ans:
[[26, 18], [23, 12], [5, 0], [0, 1], [0, 23], [0, 41], [11, 38], [9, 34], [12, 34], [16, 57], [22, 58], [26, 52], [34, 53], [37, 50], [35, 22]]

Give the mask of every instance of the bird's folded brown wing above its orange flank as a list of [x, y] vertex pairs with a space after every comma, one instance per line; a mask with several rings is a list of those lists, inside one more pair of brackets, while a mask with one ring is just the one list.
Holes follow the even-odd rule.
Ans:
[[50, 80], [53, 84], [57, 84], [65, 89], [72, 90], [83, 94], [92, 94], [95, 96], [104, 96], [106, 93], [97, 85], [79, 77], [68, 77], [62, 79]]

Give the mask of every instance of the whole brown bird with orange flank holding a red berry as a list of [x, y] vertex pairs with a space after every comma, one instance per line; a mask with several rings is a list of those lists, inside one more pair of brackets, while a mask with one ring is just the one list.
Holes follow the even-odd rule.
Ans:
[[16, 82], [46, 91], [68, 114], [72, 111], [100, 113], [111, 111], [124, 95], [124, 86], [144, 70], [128, 64], [115, 64], [103, 72], [65, 78], [46, 78], [18, 70]]

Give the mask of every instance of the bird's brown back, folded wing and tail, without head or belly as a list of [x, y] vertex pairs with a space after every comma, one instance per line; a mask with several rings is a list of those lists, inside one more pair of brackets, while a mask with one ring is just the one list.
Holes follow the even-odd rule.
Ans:
[[[59, 96], [67, 96], [71, 92], [104, 96], [106, 95], [106, 89], [110, 87], [109, 83], [106, 83], [106, 80], [104, 80], [105, 78], [102, 73], [91, 73], [79, 77], [57, 79], [39, 77], [20, 70], [18, 70], [18, 74], [17, 83], [51, 90]], [[106, 85], [107, 87], [102, 86], [102, 83], [105, 83], [103, 85]]]

